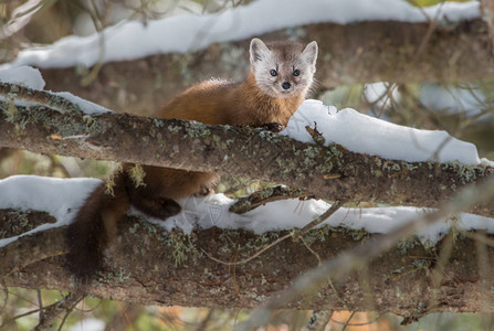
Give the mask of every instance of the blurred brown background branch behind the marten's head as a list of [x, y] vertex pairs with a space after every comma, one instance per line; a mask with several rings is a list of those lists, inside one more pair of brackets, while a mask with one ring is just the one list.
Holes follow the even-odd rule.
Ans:
[[[429, 30], [430, 39], [422, 45]], [[303, 35], [303, 36], [301, 36]], [[481, 20], [444, 23], [360, 22], [312, 24], [265, 40], [316, 40], [319, 88], [395, 83], [456, 83], [491, 77], [488, 26]], [[74, 68], [42, 70], [46, 88], [69, 90], [118, 111], [153, 114], [166, 100], [211, 77], [241, 81], [249, 70], [249, 40], [213, 44], [192, 54], [164, 54], [104, 64], [88, 86]], [[420, 50], [420, 51], [419, 51]]]

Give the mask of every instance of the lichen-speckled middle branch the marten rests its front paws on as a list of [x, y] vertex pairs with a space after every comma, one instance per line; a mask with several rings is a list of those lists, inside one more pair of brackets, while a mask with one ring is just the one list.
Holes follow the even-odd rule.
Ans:
[[[2, 107], [2, 108], [1, 108]], [[320, 199], [438, 207], [493, 168], [404, 162], [322, 147], [249, 127], [128, 114], [61, 114], [0, 105], [0, 143], [42, 153], [217, 171], [287, 184]], [[136, 148], [138, 146], [139, 148]], [[470, 212], [493, 216], [494, 202]]]

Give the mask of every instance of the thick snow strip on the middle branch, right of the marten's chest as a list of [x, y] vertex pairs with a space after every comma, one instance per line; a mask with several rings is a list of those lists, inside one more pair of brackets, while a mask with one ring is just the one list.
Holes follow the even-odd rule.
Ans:
[[454, 162], [480, 164], [473, 143], [458, 140], [446, 131], [419, 130], [370, 117], [351, 108], [339, 111], [319, 100], [305, 100], [281, 135], [304, 142], [314, 139], [305, 127], [323, 134], [326, 145], [336, 142], [357, 153], [408, 162]]

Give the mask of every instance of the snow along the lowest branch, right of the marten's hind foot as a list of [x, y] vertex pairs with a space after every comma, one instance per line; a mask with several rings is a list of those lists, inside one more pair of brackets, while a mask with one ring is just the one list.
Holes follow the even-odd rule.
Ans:
[[[151, 220], [151, 222], [161, 224], [168, 231], [178, 227], [186, 233], [191, 232], [195, 226], [201, 228], [217, 226], [220, 228], [244, 228], [261, 234], [303, 227], [330, 207], [330, 204], [322, 200], [299, 201], [291, 199], [272, 202], [243, 215], [238, 215], [229, 212], [235, 200], [223, 194], [213, 194], [206, 197], [191, 196], [181, 201], [185, 211], [179, 215], [165, 222], [158, 220]], [[319, 226], [341, 226], [386, 234], [433, 211], [432, 209], [412, 206], [341, 207]], [[445, 218], [438, 222], [433, 228], [422, 228], [417, 235], [423, 244], [433, 245], [449, 232], [451, 226], [464, 231], [485, 229], [488, 233], [494, 233], [493, 221], [490, 217], [462, 213], [458, 218]]]

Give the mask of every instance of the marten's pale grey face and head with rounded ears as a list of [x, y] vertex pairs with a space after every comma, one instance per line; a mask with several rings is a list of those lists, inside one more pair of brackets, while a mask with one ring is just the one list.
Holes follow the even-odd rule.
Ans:
[[307, 93], [314, 81], [317, 43], [305, 47], [297, 42], [264, 44], [254, 38], [250, 47], [251, 71], [257, 87], [276, 98], [290, 98]]

